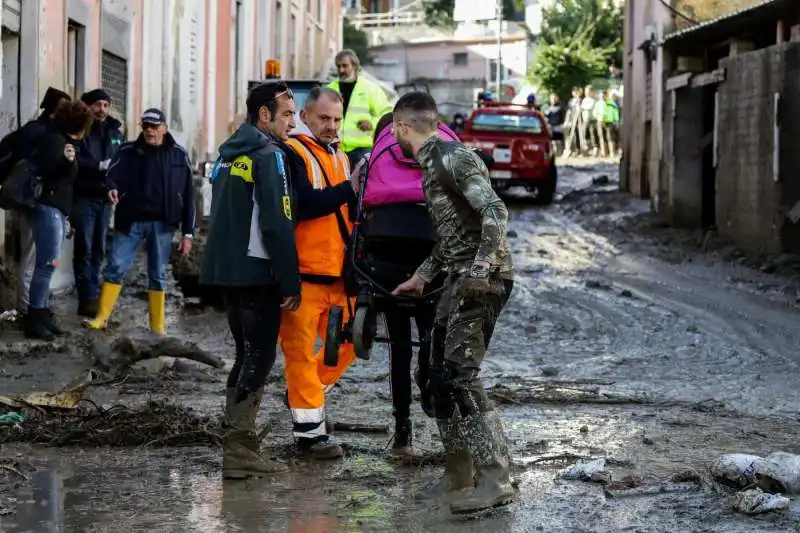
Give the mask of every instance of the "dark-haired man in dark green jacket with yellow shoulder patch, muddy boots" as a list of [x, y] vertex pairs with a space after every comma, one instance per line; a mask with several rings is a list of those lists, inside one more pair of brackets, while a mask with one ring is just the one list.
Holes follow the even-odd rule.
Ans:
[[223, 477], [286, 470], [262, 457], [255, 432], [275, 363], [281, 311], [300, 304], [292, 194], [279, 146], [295, 127], [291, 91], [263, 83], [247, 98], [247, 121], [219, 148], [212, 171], [211, 231], [200, 283], [221, 287], [236, 360], [226, 385]]

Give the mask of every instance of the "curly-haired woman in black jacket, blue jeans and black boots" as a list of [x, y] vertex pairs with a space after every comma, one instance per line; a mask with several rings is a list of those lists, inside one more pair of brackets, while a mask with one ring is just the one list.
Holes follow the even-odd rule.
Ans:
[[62, 102], [28, 158], [41, 185], [38, 205], [27, 214], [36, 245], [24, 327], [28, 338], [53, 340], [64, 333], [50, 312], [50, 281], [69, 232], [67, 217], [78, 170], [76, 146], [89, 131], [92, 120], [92, 112], [83, 102]]

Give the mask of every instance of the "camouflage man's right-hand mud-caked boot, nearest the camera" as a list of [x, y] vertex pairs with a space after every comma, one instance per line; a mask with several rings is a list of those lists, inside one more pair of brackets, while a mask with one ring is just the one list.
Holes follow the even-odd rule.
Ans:
[[469, 416], [462, 423], [478, 479], [472, 492], [451, 501], [450, 512], [475, 513], [510, 504], [515, 492], [511, 486], [508, 442], [500, 415], [488, 411]]

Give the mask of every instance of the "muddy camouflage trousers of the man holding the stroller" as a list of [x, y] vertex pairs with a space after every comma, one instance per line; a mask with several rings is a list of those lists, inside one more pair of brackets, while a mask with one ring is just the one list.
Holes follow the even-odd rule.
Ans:
[[514, 282], [451, 275], [445, 281], [431, 339], [430, 392], [437, 419], [492, 409], [478, 374]]

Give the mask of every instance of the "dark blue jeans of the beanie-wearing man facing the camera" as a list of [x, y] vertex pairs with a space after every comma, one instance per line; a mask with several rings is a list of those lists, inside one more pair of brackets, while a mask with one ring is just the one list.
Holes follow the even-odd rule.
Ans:
[[111, 205], [102, 200], [76, 198], [70, 222], [75, 228], [72, 268], [78, 298], [96, 300], [100, 294], [100, 267], [106, 250]]

